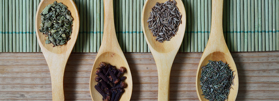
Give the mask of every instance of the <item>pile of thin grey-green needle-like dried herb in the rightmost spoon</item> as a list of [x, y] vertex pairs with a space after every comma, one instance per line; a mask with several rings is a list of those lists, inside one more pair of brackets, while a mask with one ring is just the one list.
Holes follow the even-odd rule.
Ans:
[[209, 61], [202, 67], [200, 85], [203, 94], [210, 101], [224, 101], [228, 99], [233, 84], [233, 71], [222, 61]]

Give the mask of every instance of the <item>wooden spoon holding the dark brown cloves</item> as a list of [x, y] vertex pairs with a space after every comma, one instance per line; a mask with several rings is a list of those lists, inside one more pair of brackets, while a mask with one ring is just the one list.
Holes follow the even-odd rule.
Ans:
[[124, 89], [125, 91], [122, 94], [120, 100], [129, 101], [133, 89], [132, 75], [127, 60], [116, 38], [114, 17], [113, 17], [113, 0], [104, 0], [103, 41], [100, 46], [100, 50], [96, 56], [91, 71], [91, 76], [90, 76], [90, 95], [92, 100], [94, 101], [102, 101], [101, 94], [94, 88], [94, 86], [97, 85], [97, 82], [94, 79], [97, 76], [95, 72], [96, 72], [96, 68], [99, 67], [100, 62], [110, 63], [112, 66], [116, 66], [116, 68], [120, 68], [121, 66], [126, 68], [126, 72], [123, 74], [123, 76], [127, 77], [127, 79], [124, 80], [127, 86]]

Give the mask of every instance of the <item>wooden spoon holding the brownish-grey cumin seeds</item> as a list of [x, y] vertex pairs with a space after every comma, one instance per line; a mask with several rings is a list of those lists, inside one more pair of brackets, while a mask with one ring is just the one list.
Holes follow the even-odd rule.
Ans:
[[177, 35], [172, 37], [170, 41], [164, 41], [163, 43], [155, 41], [155, 37], [153, 37], [153, 34], [148, 27], [149, 23], [146, 21], [150, 16], [151, 8], [155, 6], [156, 2], [164, 3], [165, 1], [167, 0], [147, 0], [142, 11], [142, 29], [144, 37], [154, 57], [158, 70], [158, 101], [169, 100], [169, 78], [171, 66], [174, 61], [174, 57], [180, 48], [186, 27], [186, 12], [184, 5], [181, 0], [176, 0], [176, 6], [182, 14], [182, 23], [178, 27], [178, 31], [176, 32]]

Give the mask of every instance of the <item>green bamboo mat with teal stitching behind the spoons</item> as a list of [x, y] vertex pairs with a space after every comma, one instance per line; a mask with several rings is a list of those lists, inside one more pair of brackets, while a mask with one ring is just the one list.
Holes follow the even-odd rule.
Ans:
[[[74, 0], [80, 31], [73, 52], [98, 52], [103, 38], [103, 0]], [[114, 0], [123, 52], [150, 52], [143, 35], [145, 0]], [[40, 52], [35, 14], [40, 0], [0, 0], [0, 52]], [[211, 0], [183, 0], [187, 18], [179, 52], [203, 52], [210, 35]], [[279, 0], [224, 0], [223, 31], [230, 51], [279, 50]], [[179, 33], [181, 34], [181, 33]]]

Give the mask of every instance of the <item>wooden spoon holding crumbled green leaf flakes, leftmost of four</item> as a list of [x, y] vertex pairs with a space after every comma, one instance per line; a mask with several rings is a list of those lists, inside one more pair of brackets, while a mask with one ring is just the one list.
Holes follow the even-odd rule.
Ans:
[[[53, 47], [53, 44], [45, 44], [46, 37], [39, 31], [41, 24], [40, 13], [47, 5], [52, 4], [54, 1], [57, 1], [58, 3], [62, 2], [64, 5], [66, 5], [68, 7], [68, 10], [71, 11], [71, 16], [74, 18], [72, 27], [73, 29], [70, 36], [71, 39], [66, 44], [56, 47]], [[71, 51], [73, 50], [74, 44], [76, 43], [76, 38], [78, 36], [79, 30], [79, 14], [76, 4], [73, 0], [42, 0], [37, 9], [35, 23], [37, 39], [47, 61], [47, 65], [49, 66], [51, 75], [52, 100], [64, 101], [64, 70]]]

